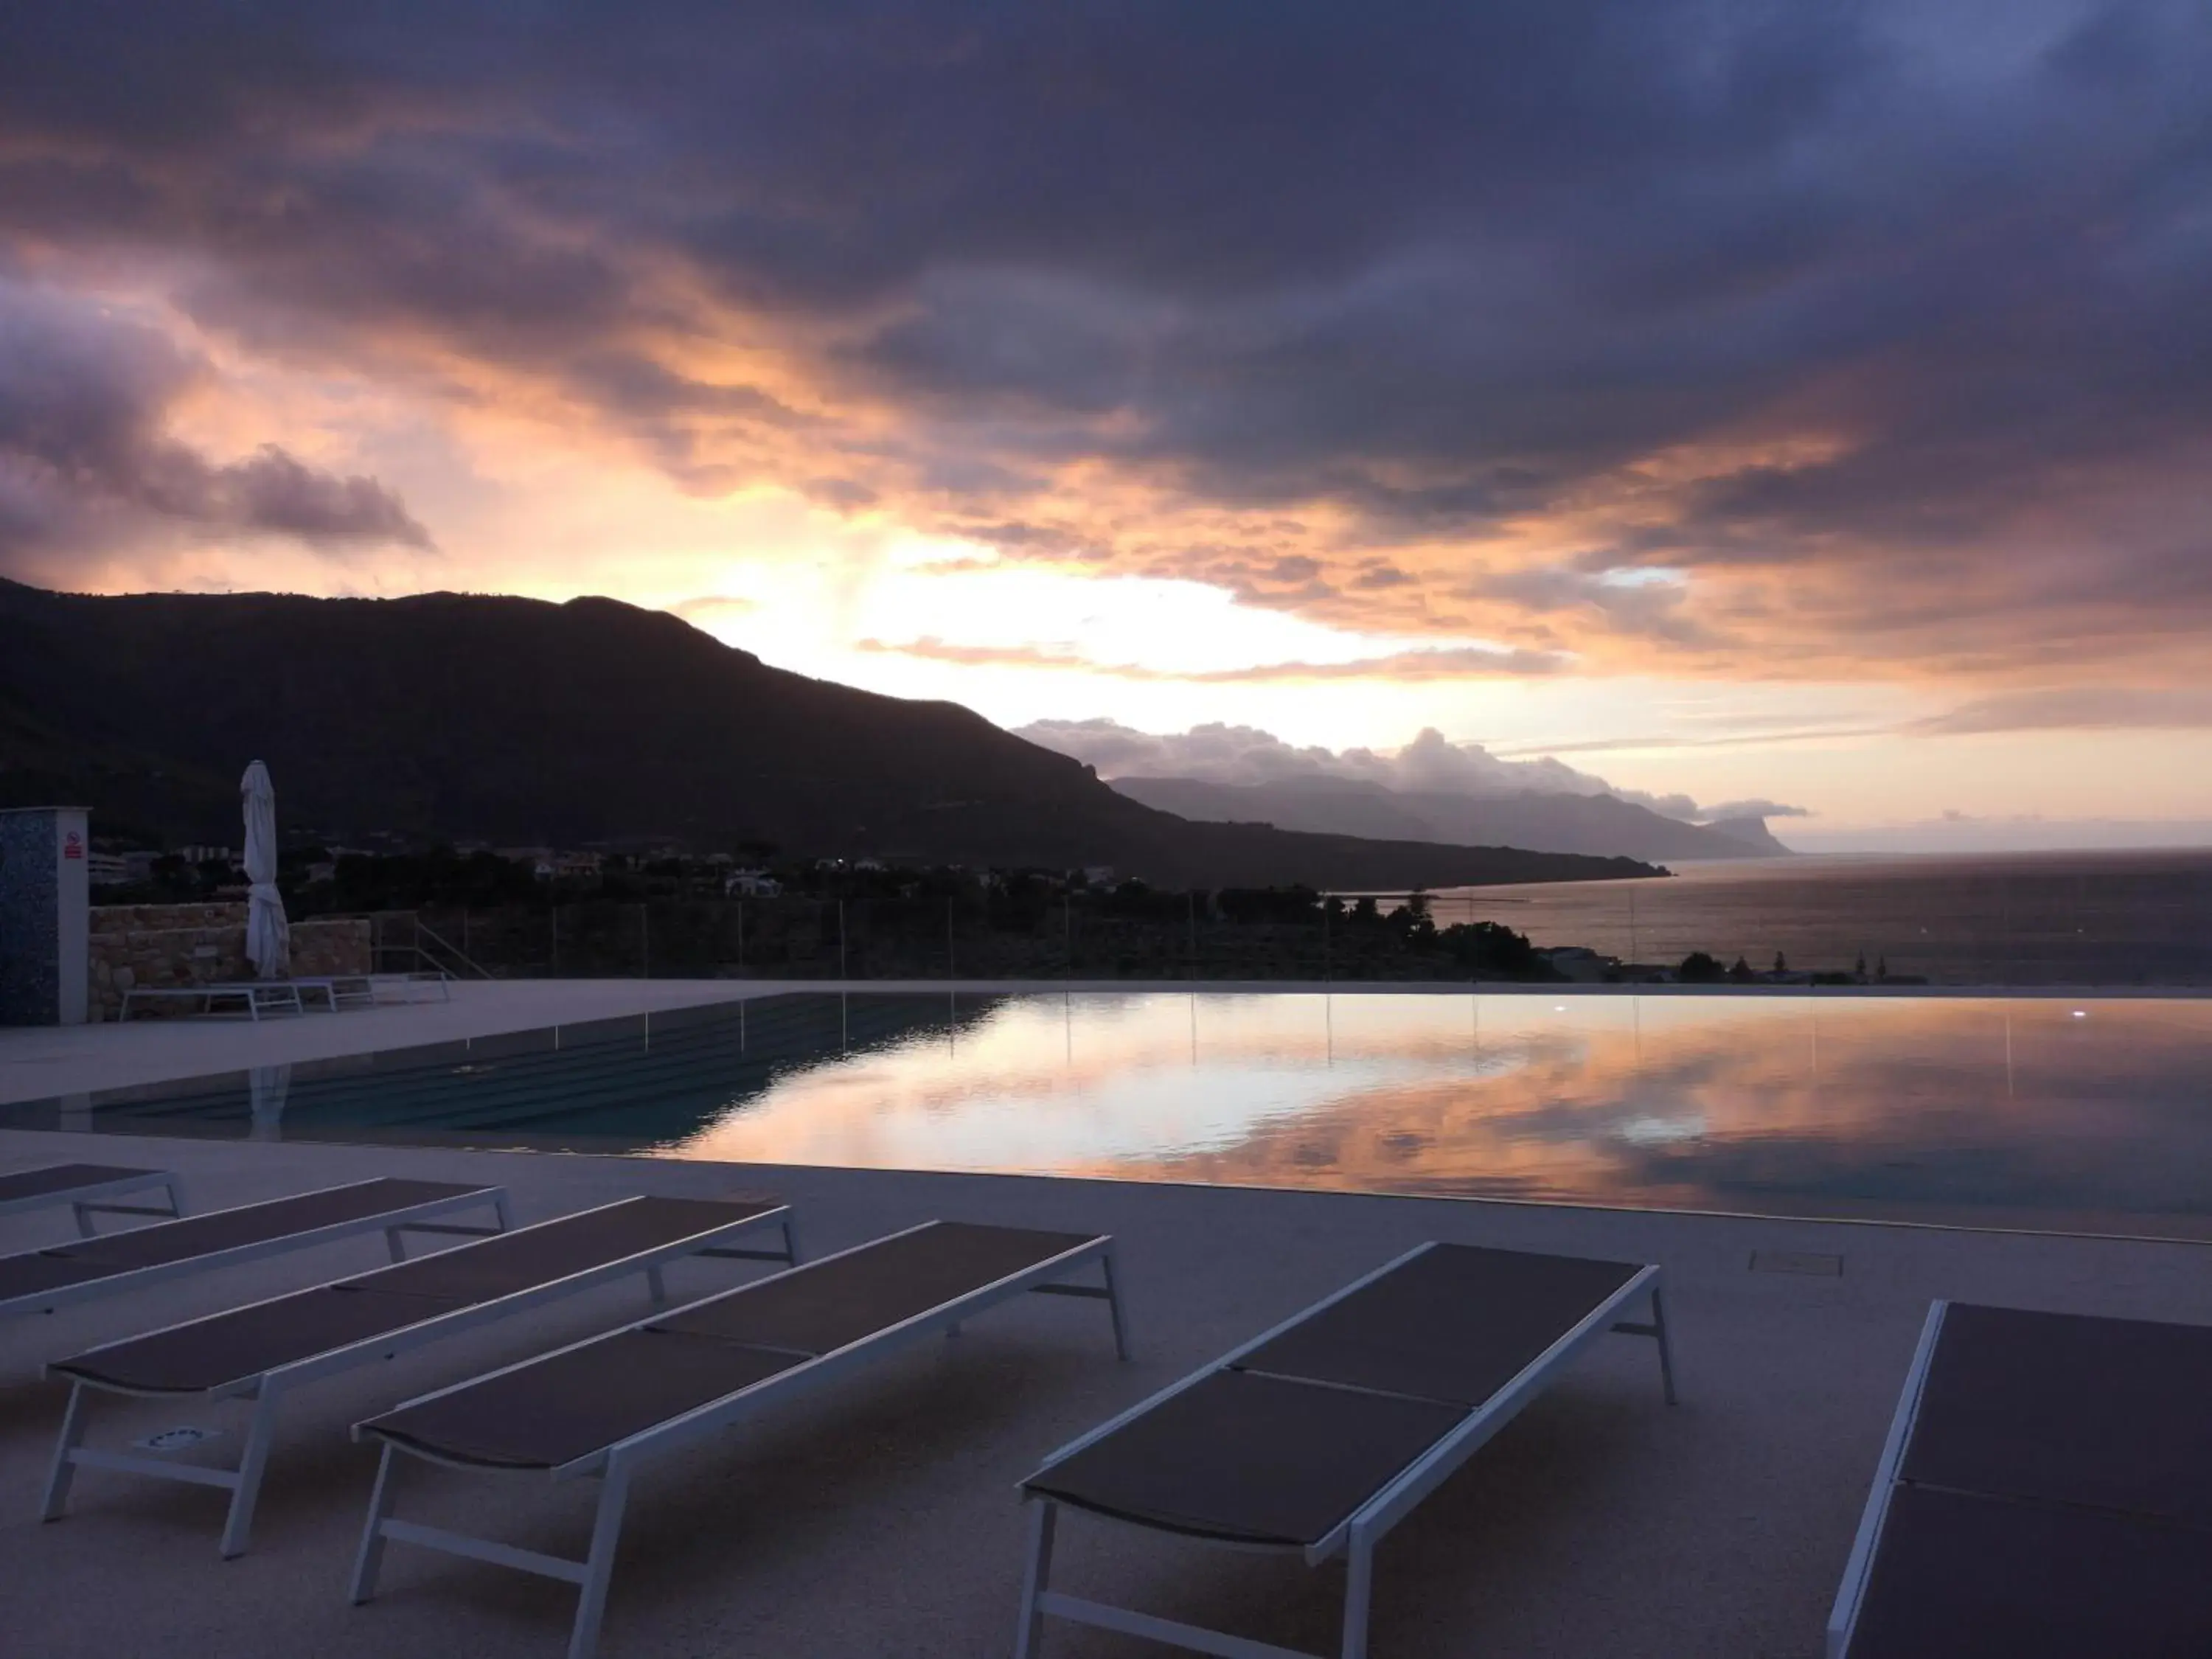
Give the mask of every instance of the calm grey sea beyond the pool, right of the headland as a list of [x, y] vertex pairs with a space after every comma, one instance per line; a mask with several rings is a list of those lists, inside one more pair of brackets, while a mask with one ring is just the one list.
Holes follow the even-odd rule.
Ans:
[[1929, 984], [2212, 984], [2212, 849], [1869, 856], [1681, 865], [1639, 880], [1451, 887], [1438, 925], [1493, 920], [1624, 962], [1710, 951], [1752, 969]]

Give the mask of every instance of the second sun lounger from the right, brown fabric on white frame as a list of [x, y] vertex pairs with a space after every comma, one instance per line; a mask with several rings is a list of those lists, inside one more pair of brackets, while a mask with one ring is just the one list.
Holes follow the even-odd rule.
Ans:
[[[1650, 1323], [1621, 1310], [1648, 1298]], [[1606, 1332], [1674, 1363], [1659, 1267], [1425, 1243], [1044, 1460], [1018, 1659], [1046, 1615], [1225, 1659], [1307, 1659], [1048, 1588], [1060, 1504], [1241, 1548], [1345, 1557], [1343, 1659], [1367, 1652], [1376, 1544]]]

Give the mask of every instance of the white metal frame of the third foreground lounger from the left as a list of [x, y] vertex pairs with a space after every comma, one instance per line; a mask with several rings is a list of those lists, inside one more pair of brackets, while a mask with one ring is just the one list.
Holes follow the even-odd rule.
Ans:
[[[617, 1206], [599, 1206], [602, 1210], [613, 1210]], [[577, 1214], [595, 1214], [595, 1210], [582, 1210]], [[575, 1217], [555, 1217], [557, 1221], [571, 1221]], [[743, 1232], [754, 1232], [759, 1228], [781, 1228], [783, 1250], [739, 1250], [730, 1241]], [[529, 1290], [509, 1292], [507, 1296], [495, 1296], [484, 1303], [471, 1303], [469, 1307], [453, 1307], [445, 1314], [431, 1314], [414, 1325], [405, 1325], [396, 1332], [385, 1332], [380, 1336], [365, 1336], [356, 1343], [341, 1343], [338, 1347], [323, 1349], [290, 1365], [276, 1365], [268, 1371], [254, 1376], [237, 1378], [215, 1389], [199, 1391], [204, 1400], [252, 1400], [254, 1413], [246, 1429], [246, 1444], [241, 1449], [234, 1469], [210, 1469], [206, 1464], [166, 1462], [159, 1458], [135, 1458], [124, 1451], [100, 1451], [84, 1444], [84, 1405], [88, 1391], [102, 1394], [135, 1394], [142, 1398], [179, 1398], [177, 1389], [133, 1389], [119, 1383], [104, 1383], [97, 1378], [84, 1378], [75, 1374], [64, 1374], [71, 1380], [69, 1409], [62, 1413], [62, 1436], [53, 1449], [53, 1464], [46, 1473], [46, 1500], [42, 1520], [60, 1520], [69, 1506], [69, 1486], [77, 1469], [106, 1469], [126, 1475], [150, 1475], [155, 1480], [181, 1480], [192, 1486], [217, 1486], [230, 1493], [230, 1511], [223, 1517], [221, 1553], [223, 1559], [232, 1559], [246, 1553], [248, 1537], [254, 1524], [254, 1504], [261, 1498], [261, 1478], [268, 1471], [270, 1447], [276, 1438], [276, 1413], [283, 1398], [294, 1389], [307, 1387], [310, 1383], [321, 1383], [325, 1376], [338, 1376], [341, 1371], [352, 1371], [363, 1365], [374, 1365], [380, 1360], [398, 1358], [418, 1347], [429, 1347], [431, 1343], [442, 1343], [447, 1336], [460, 1336], [462, 1332], [476, 1329], [480, 1325], [493, 1325], [513, 1314], [524, 1314], [564, 1296], [575, 1296], [586, 1290], [626, 1279], [630, 1274], [646, 1274], [648, 1294], [655, 1307], [668, 1305], [668, 1287], [661, 1281], [661, 1270], [688, 1256], [719, 1256], [719, 1259], [741, 1259], [741, 1261], [781, 1261], [785, 1265], [796, 1265], [799, 1261], [799, 1239], [792, 1228], [790, 1206], [779, 1203], [772, 1210], [761, 1210], [759, 1214], [743, 1217], [741, 1221], [730, 1221], [728, 1225], [697, 1232], [688, 1239], [679, 1239], [668, 1245], [653, 1245], [639, 1250], [619, 1261], [599, 1263], [597, 1267], [584, 1267], [582, 1272], [568, 1274], [564, 1279], [549, 1279], [544, 1283], [531, 1285]], [[358, 1279], [358, 1274], [354, 1274]], [[334, 1281], [347, 1283], [347, 1281]], [[272, 1296], [268, 1301], [285, 1301], [299, 1292], [285, 1292], [285, 1296]], [[261, 1303], [248, 1303], [259, 1307]], [[181, 1321], [181, 1325], [192, 1325], [197, 1321]], [[177, 1329], [170, 1325], [168, 1329]], [[159, 1336], [161, 1332], [148, 1332], [148, 1336]], [[126, 1336], [119, 1343], [104, 1343], [100, 1347], [86, 1349], [84, 1354], [73, 1354], [73, 1360], [86, 1360], [104, 1354], [111, 1347], [124, 1347], [128, 1343], [144, 1340], [142, 1336]], [[46, 1367], [53, 1376], [53, 1367]]]

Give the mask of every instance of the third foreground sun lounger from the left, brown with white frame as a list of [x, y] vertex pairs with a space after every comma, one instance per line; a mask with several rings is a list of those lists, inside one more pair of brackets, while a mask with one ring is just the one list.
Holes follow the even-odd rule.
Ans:
[[[734, 1245], [739, 1234], [770, 1225], [783, 1228], [783, 1250]], [[62, 1517], [80, 1467], [221, 1486], [230, 1493], [223, 1557], [243, 1555], [276, 1409], [294, 1389], [628, 1274], [646, 1274], [661, 1305], [668, 1301], [661, 1270], [681, 1256], [794, 1263], [794, 1248], [792, 1212], [774, 1199], [624, 1199], [55, 1360], [49, 1376], [71, 1378], [71, 1389], [44, 1517]], [[254, 1400], [239, 1467], [208, 1469], [84, 1447], [88, 1389]]]

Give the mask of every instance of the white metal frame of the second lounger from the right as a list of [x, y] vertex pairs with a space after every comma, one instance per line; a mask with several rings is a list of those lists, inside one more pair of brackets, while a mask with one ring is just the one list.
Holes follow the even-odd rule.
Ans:
[[[1199, 1367], [1179, 1383], [1170, 1383], [1159, 1394], [1148, 1400], [1139, 1400], [1128, 1411], [1117, 1418], [1108, 1418], [1097, 1429], [1086, 1436], [1071, 1440], [1060, 1447], [1051, 1458], [1046, 1458], [1037, 1473], [1066, 1462], [1084, 1447], [1104, 1440], [1108, 1433], [1119, 1429], [1124, 1422], [1141, 1418], [1152, 1407], [1164, 1400], [1172, 1400], [1177, 1394], [1197, 1387], [1210, 1376], [1230, 1369], [1245, 1354], [1252, 1354], [1276, 1336], [1303, 1325], [1314, 1314], [1332, 1307], [1354, 1292], [1365, 1290], [1385, 1274], [1405, 1267], [1409, 1261], [1436, 1250], [1438, 1241], [1429, 1241], [1407, 1250], [1394, 1261], [1385, 1261], [1371, 1274], [1354, 1279], [1343, 1290], [1332, 1296], [1323, 1296], [1310, 1307], [1301, 1307], [1296, 1314], [1285, 1318], [1259, 1336], [1254, 1336], [1243, 1347], [1230, 1349], [1210, 1365]], [[1639, 1298], [1650, 1298], [1650, 1321], [1630, 1323], [1619, 1318], [1621, 1310]], [[1197, 1533], [1177, 1533], [1177, 1537], [1192, 1537], [1199, 1544], [1210, 1544], [1214, 1548], [1237, 1548], [1237, 1551], [1265, 1551], [1265, 1553], [1296, 1553], [1307, 1566], [1321, 1566], [1323, 1562], [1343, 1555], [1345, 1557], [1345, 1621], [1343, 1621], [1343, 1659], [1365, 1659], [1367, 1655], [1367, 1615], [1374, 1597], [1374, 1553], [1376, 1544], [1420, 1502], [1451, 1480], [1458, 1469], [1473, 1458], [1500, 1429], [1511, 1422], [1522, 1407], [1526, 1407], [1537, 1394], [1542, 1394], [1551, 1380], [1566, 1369], [1568, 1363], [1584, 1347], [1595, 1343], [1599, 1336], [1610, 1332], [1621, 1332], [1628, 1336], [1650, 1336], [1659, 1345], [1659, 1383], [1666, 1389], [1668, 1405], [1674, 1405], [1674, 1349], [1668, 1340], [1666, 1329], [1666, 1303], [1659, 1283], [1659, 1267], [1639, 1267], [1619, 1290], [1606, 1296], [1597, 1307], [1593, 1307], [1573, 1329], [1559, 1336], [1551, 1347], [1537, 1354], [1520, 1374], [1515, 1374], [1504, 1387], [1491, 1394], [1475, 1411], [1462, 1418], [1449, 1433], [1444, 1433], [1436, 1444], [1431, 1444], [1420, 1458], [1407, 1464], [1387, 1486], [1374, 1493], [1365, 1504], [1360, 1504], [1352, 1515], [1347, 1515], [1334, 1531], [1314, 1544], [1265, 1544], [1265, 1542], [1243, 1542], [1223, 1537], [1203, 1537]], [[1340, 1385], [1316, 1385], [1316, 1387], [1340, 1387]], [[1031, 1475], [1035, 1480], [1035, 1475]], [[1015, 1659], [1035, 1659], [1044, 1644], [1044, 1619], [1066, 1619], [1068, 1624], [1088, 1624], [1102, 1630], [1117, 1630], [1130, 1637], [1144, 1637], [1148, 1641], [1159, 1641], [1170, 1648], [1186, 1648], [1188, 1652], [1217, 1655], [1217, 1659], [1314, 1659], [1314, 1655], [1298, 1652], [1296, 1648], [1279, 1648], [1267, 1641], [1254, 1641], [1252, 1637], [1234, 1637], [1223, 1630], [1208, 1630], [1194, 1624], [1181, 1624], [1177, 1619], [1161, 1619], [1150, 1613], [1137, 1613], [1135, 1608], [1110, 1606], [1106, 1601], [1091, 1601], [1084, 1597], [1066, 1595], [1064, 1590], [1051, 1588], [1053, 1573], [1053, 1537], [1057, 1531], [1060, 1506], [1082, 1509], [1082, 1504], [1071, 1504], [1064, 1498], [1048, 1498], [1044, 1493], [1029, 1493], [1024, 1482], [1024, 1500], [1029, 1504], [1029, 1555], [1022, 1568], [1022, 1606], [1020, 1624], [1015, 1630], [1013, 1652]], [[1097, 1515], [1097, 1511], [1084, 1511]], [[1150, 1526], [1146, 1522], [1128, 1520], [1124, 1515], [1099, 1515], [1099, 1520], [1115, 1522], [1119, 1526], [1135, 1526], [1139, 1531], [1170, 1531], [1161, 1526]]]

